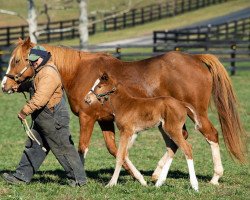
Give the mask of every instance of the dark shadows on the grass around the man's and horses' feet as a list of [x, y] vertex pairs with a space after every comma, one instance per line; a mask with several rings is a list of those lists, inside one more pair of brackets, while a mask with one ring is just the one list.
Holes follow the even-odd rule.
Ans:
[[[8, 170], [0, 170], [0, 174], [2, 176], [3, 173], [14, 173], [14, 171], [8, 171]], [[98, 170], [86, 170], [86, 174], [88, 179], [93, 179], [97, 182], [101, 183], [108, 183], [113, 175], [114, 169], [113, 168], [104, 168], [104, 169], [98, 169]], [[153, 174], [152, 170], [140, 171], [143, 176], [145, 177], [151, 177]], [[37, 176], [38, 175], [38, 176]], [[55, 178], [58, 177], [59, 179]], [[120, 172], [119, 176], [119, 182], [124, 183], [128, 179], [131, 179], [132, 177], [124, 170]], [[173, 178], [173, 179], [189, 179], [189, 174], [176, 170], [176, 171], [170, 171], [168, 173], [167, 178]], [[204, 176], [204, 175], [197, 175], [199, 182], [209, 182], [211, 180], [211, 176]], [[63, 170], [57, 169], [57, 170], [48, 170], [48, 171], [38, 171], [36, 173], [36, 176], [32, 179], [33, 183], [57, 183], [61, 185], [67, 185], [67, 177], [66, 173]]]

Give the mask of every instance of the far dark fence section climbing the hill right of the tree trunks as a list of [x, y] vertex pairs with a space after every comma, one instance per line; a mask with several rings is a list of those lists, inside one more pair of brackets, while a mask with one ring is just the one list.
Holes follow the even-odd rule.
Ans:
[[[124, 29], [226, 1], [227, 0], [170, 0], [162, 4], [153, 4], [139, 9], [133, 9], [120, 16], [104, 20], [104, 31]], [[106, 17], [110, 15], [111, 14], [106, 14]]]

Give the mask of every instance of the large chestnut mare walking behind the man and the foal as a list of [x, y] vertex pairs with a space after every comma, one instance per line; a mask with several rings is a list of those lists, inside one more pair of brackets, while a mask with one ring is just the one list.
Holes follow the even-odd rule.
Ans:
[[[2, 90], [12, 93], [14, 87], [33, 76], [27, 56], [35, 44], [27, 38], [19, 39], [12, 52], [7, 74], [2, 81]], [[115, 131], [112, 111], [109, 106], [84, 102], [85, 95], [94, 85], [103, 70], [116, 77], [130, 94], [137, 97], [172, 96], [191, 104], [200, 116], [200, 132], [210, 144], [214, 164], [211, 183], [218, 184], [223, 174], [218, 132], [208, 119], [211, 96], [217, 108], [222, 134], [231, 155], [244, 162], [244, 145], [236, 97], [227, 71], [219, 60], [210, 54], [190, 55], [169, 52], [153, 58], [123, 62], [104, 53], [86, 53], [78, 50], [44, 45], [51, 52], [58, 67], [71, 110], [79, 116], [79, 152], [86, 155], [95, 121], [98, 121], [109, 152], [116, 156]], [[25, 66], [27, 68], [25, 68]], [[173, 149], [176, 152], [177, 147]], [[160, 174], [167, 157], [159, 162], [154, 178]], [[126, 166], [126, 162], [124, 163]], [[127, 167], [128, 169], [128, 167]], [[131, 171], [130, 171], [131, 172]]]

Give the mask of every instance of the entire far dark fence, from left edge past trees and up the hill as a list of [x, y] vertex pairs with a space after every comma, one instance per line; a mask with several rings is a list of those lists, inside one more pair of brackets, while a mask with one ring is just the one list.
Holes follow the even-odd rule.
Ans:
[[[171, 17], [191, 10], [199, 9], [216, 3], [226, 2], [228, 0], [166, 0], [163, 4], [152, 4], [139, 9], [133, 9], [120, 16], [111, 17], [98, 23], [101, 31], [124, 29], [126, 27], [143, 24], [149, 21]], [[116, 13], [109, 13], [105, 16], [113, 16]], [[95, 23], [96, 17], [89, 18], [89, 34], [95, 34], [99, 28]], [[57, 21], [50, 24], [39, 24], [38, 27], [43, 31], [38, 37], [38, 42], [50, 42], [63, 39], [72, 39], [79, 37], [78, 19]], [[98, 30], [97, 30], [98, 29]], [[99, 31], [100, 31], [99, 30]], [[0, 46], [9, 46], [19, 37], [25, 38], [29, 35], [28, 26], [13, 26], [0, 28]]]

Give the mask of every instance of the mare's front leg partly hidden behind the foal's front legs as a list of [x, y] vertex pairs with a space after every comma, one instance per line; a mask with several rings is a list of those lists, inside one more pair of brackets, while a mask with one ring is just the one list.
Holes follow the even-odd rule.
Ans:
[[[115, 144], [115, 127], [114, 127], [114, 122], [113, 121], [98, 121], [103, 137], [107, 146], [107, 149], [111, 155], [113, 155], [116, 158], [117, 155], [117, 147]], [[127, 161], [123, 163], [124, 169], [132, 176], [134, 176], [134, 173], [131, 171], [129, 166], [127, 165]]]

